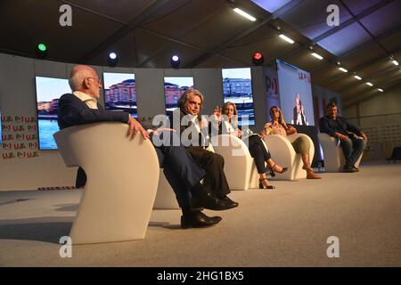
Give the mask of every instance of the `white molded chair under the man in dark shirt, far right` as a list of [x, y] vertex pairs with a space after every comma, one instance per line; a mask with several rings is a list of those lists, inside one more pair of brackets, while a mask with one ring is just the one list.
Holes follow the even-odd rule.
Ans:
[[[340, 141], [329, 134], [318, 134], [319, 142], [322, 145], [323, 158], [324, 158], [324, 171], [325, 172], [340, 172], [344, 167], [346, 159], [344, 152], [340, 147]], [[356, 167], [359, 167], [362, 156], [361, 154], [358, 160], [356, 160]]]

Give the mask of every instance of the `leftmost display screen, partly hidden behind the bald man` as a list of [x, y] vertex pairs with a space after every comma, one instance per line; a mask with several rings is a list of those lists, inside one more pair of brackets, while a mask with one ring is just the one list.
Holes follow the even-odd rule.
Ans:
[[37, 126], [39, 150], [56, 150], [53, 134], [58, 132], [57, 114], [59, 98], [71, 93], [69, 80], [53, 77], [36, 77], [37, 85]]

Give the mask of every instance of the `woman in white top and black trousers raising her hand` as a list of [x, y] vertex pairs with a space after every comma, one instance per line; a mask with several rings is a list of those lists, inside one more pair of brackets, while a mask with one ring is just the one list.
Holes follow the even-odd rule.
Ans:
[[[214, 115], [218, 122], [218, 134], [232, 134], [241, 138], [242, 132], [238, 127], [237, 107], [233, 102], [226, 102], [223, 108], [217, 107]], [[222, 118], [222, 115], [225, 115], [225, 118]], [[275, 164], [274, 160], [271, 158], [270, 152], [266, 149], [265, 143], [262, 141], [265, 136], [266, 134], [263, 132], [250, 135], [249, 150], [258, 168], [259, 189], [274, 189], [275, 187], [271, 185], [266, 178], [266, 164], [272, 176], [274, 176], [274, 172], [283, 173], [287, 171], [287, 167], [280, 167]]]

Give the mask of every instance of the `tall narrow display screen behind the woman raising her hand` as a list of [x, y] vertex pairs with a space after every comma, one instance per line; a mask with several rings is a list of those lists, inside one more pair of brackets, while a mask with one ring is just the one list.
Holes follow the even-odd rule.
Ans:
[[224, 101], [235, 103], [239, 125], [254, 126], [255, 110], [250, 68], [222, 69], [222, 76]]

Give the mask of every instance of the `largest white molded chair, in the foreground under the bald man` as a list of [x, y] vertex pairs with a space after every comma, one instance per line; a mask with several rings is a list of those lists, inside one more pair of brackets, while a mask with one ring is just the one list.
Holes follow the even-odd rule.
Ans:
[[159, 160], [149, 140], [127, 138], [117, 122], [71, 126], [53, 134], [67, 167], [87, 181], [70, 232], [73, 244], [144, 239], [151, 219]]

